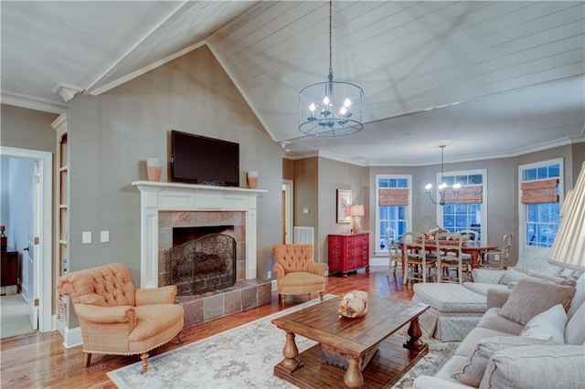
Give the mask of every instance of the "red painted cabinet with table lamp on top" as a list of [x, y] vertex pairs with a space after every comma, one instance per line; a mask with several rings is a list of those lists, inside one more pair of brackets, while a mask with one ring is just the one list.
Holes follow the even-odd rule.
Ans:
[[329, 236], [329, 272], [347, 273], [358, 268], [369, 271], [369, 233]]

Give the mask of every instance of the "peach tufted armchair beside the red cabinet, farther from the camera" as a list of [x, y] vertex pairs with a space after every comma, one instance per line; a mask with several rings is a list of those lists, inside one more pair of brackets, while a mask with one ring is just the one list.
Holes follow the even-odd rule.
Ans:
[[272, 248], [276, 262], [272, 271], [276, 275], [276, 286], [282, 307], [288, 294], [319, 292], [323, 300], [325, 291], [326, 263], [316, 263], [313, 259], [313, 245], [276, 245]]

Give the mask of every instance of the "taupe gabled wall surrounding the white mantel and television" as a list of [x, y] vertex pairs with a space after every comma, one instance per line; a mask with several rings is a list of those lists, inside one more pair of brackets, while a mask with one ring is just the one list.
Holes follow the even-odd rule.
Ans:
[[[207, 47], [69, 102], [70, 268], [121, 261], [140, 284], [140, 193], [131, 183], [146, 179], [148, 157], [169, 162], [170, 130], [239, 142], [240, 186], [246, 171], [260, 173], [259, 188], [268, 193], [258, 198], [257, 276], [266, 278], [271, 247], [281, 239], [282, 168], [273, 162], [282, 150]], [[109, 243], [99, 243], [101, 230], [110, 231]], [[93, 243], [81, 244], [82, 231], [92, 232]]]

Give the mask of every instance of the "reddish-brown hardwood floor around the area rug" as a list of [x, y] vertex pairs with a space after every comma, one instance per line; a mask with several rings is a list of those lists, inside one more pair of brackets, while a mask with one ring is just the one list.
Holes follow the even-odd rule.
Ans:
[[[402, 300], [411, 300], [413, 295], [412, 287], [403, 286], [399, 276], [386, 276], [386, 267], [372, 267], [369, 274], [360, 270], [346, 278], [327, 278], [326, 293], [340, 294], [352, 289], [366, 290], [371, 294], [392, 296]], [[306, 300], [307, 297], [304, 295], [287, 297], [284, 309]], [[197, 342], [279, 310], [282, 310], [282, 307], [278, 303], [277, 294], [273, 292], [271, 304], [186, 328], [181, 332], [181, 340], [184, 344]], [[58, 331], [33, 332], [3, 339], [0, 342], [2, 359], [0, 387], [115, 388], [106, 373], [140, 361], [138, 355], [94, 354], [91, 356], [90, 367], [84, 368], [81, 366], [81, 346], [65, 349], [62, 342], [63, 338]], [[167, 352], [180, 346], [174, 340], [153, 350], [150, 355]]]

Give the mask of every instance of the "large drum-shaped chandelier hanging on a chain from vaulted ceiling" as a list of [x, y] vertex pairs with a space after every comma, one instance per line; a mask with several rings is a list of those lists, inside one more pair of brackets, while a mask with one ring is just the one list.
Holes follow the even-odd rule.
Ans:
[[355, 84], [333, 80], [333, 0], [329, 0], [329, 77], [301, 89], [299, 131], [306, 135], [334, 137], [361, 131], [364, 90]]

